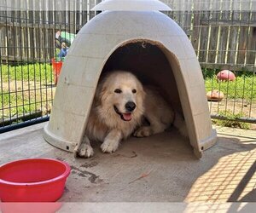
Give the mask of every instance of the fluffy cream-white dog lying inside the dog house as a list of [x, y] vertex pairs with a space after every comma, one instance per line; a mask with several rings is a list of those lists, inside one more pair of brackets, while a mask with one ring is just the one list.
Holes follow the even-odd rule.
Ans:
[[[143, 123], [144, 118], [148, 124]], [[183, 118], [174, 114], [156, 89], [143, 87], [131, 72], [109, 72], [98, 83], [84, 140], [74, 151], [89, 158], [93, 155], [90, 141], [102, 141], [102, 152], [113, 153], [132, 133], [137, 137], [154, 135], [172, 123], [186, 135]]]

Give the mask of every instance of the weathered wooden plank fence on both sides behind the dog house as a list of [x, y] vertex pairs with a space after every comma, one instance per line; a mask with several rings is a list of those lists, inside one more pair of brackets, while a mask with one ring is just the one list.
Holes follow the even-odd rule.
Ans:
[[[90, 9], [96, 0], [85, 2]], [[172, 1], [169, 2], [172, 4]], [[62, 30], [75, 33], [95, 15], [89, 10], [79, 10], [79, 5], [77, 9], [1, 11], [1, 60], [49, 61], [55, 55], [55, 32]], [[166, 14], [183, 27], [202, 66], [255, 72], [255, 12], [175, 10]]]

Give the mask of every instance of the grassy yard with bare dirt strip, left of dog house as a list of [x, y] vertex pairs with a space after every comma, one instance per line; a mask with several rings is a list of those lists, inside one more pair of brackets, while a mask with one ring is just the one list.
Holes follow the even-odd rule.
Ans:
[[0, 118], [49, 110], [53, 92], [49, 87], [53, 85], [50, 64], [1, 65], [0, 74]]

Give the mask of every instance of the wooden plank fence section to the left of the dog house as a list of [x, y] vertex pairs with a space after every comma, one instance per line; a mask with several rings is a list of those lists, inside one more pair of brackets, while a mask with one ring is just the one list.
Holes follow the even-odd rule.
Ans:
[[55, 55], [55, 32], [77, 32], [89, 12], [1, 11], [1, 61], [49, 61]]

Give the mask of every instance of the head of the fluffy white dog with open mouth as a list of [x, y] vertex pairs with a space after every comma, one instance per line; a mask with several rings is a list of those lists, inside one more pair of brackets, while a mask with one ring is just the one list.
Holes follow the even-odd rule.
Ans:
[[143, 114], [145, 92], [131, 72], [110, 72], [100, 83], [96, 96], [102, 112], [129, 122]]

